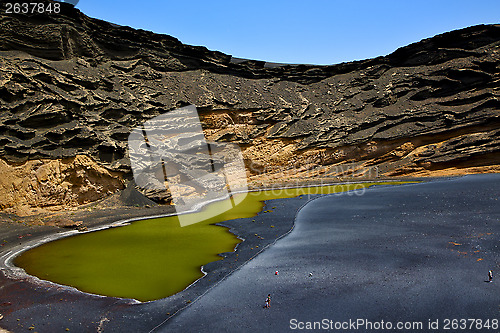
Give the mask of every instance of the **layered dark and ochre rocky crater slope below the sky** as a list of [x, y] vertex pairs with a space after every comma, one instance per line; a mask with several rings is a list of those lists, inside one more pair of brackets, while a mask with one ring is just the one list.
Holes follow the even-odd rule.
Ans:
[[[0, 17], [0, 174], [17, 168], [30, 179], [22, 191], [37, 197], [12, 199], [19, 182], [4, 180], [0, 208], [55, 209], [123, 188], [132, 128], [189, 104], [208, 140], [240, 145], [254, 186], [500, 171], [500, 25], [365, 61], [284, 66], [62, 5], [60, 14]], [[80, 155], [92, 176], [73, 165], [41, 190], [38, 170]]]

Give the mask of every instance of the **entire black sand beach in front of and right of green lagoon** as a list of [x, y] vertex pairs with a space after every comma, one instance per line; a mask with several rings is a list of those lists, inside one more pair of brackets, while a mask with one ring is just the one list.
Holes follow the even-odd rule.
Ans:
[[[407, 331], [439, 332], [446, 331], [445, 319], [463, 318], [489, 319], [491, 326], [499, 318], [500, 286], [484, 281], [488, 270], [500, 271], [499, 185], [493, 174], [322, 196], [300, 210], [295, 228], [275, 244], [307, 198], [272, 201], [272, 214], [223, 223], [246, 240], [207, 265], [205, 278], [149, 303], [15, 280], [2, 271], [0, 326], [14, 332], [288, 331], [299, 322], [365, 319], [422, 322], [422, 330]], [[264, 309], [268, 293], [271, 308]], [[428, 329], [429, 320], [439, 320], [439, 329]]]

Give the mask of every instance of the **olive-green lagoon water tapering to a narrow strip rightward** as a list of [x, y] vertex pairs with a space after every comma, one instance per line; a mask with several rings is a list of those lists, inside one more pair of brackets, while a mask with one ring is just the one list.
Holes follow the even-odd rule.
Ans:
[[[22, 253], [14, 264], [28, 274], [93, 294], [150, 301], [173, 295], [203, 276], [202, 265], [221, 260], [241, 242], [215, 223], [255, 216], [264, 200], [326, 194], [372, 185], [268, 190], [245, 196], [224, 211], [229, 200], [211, 203], [189, 214], [197, 223], [181, 227], [176, 216], [135, 221], [129, 225], [62, 238]], [[222, 213], [216, 215], [218, 212]], [[272, 214], [272, 212], [271, 212]], [[207, 218], [207, 216], [214, 216]], [[119, 216], [117, 216], [117, 220]]]

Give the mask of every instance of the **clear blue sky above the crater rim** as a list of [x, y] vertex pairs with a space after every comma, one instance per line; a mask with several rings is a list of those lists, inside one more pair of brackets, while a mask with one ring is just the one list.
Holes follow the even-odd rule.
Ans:
[[500, 23], [498, 0], [80, 0], [85, 14], [235, 57], [336, 64], [423, 38]]

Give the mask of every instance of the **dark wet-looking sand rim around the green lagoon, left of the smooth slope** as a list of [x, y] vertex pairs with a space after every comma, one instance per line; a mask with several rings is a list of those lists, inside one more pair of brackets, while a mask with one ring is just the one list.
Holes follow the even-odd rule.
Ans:
[[[33, 278], [17, 279], [10, 274], [10, 270], [5, 270], [0, 265], [0, 313], [4, 315], [0, 327], [23, 331], [34, 325], [38, 332], [55, 332], [65, 328], [77, 332], [95, 332], [98, 327], [101, 327], [103, 332], [148, 332], [263, 251], [276, 238], [289, 232], [293, 227], [297, 210], [307, 200], [308, 196], [272, 200], [263, 208], [263, 211], [272, 209], [272, 214], [261, 212], [253, 218], [221, 223], [245, 239], [238, 245], [237, 251], [224, 253], [222, 254], [224, 260], [205, 265], [203, 268], [208, 274], [186, 290], [155, 302], [137, 304], [127, 299], [84, 294]], [[118, 218], [140, 216], [141, 212], [148, 216], [165, 214], [170, 208], [172, 207], [131, 210], [117, 208], [87, 213], [80, 215], [78, 219], [83, 220], [89, 227], [100, 226], [112, 223]], [[27, 241], [34, 241], [61, 231], [57, 228], [18, 225], [4, 225], [3, 228], [0, 229], [0, 234], [4, 231], [5, 235], [9, 235], [9, 242], [6, 243], [7, 246], [2, 247], [0, 256], [19, 243], [24, 246]], [[27, 233], [31, 236], [18, 239], [17, 235]]]

